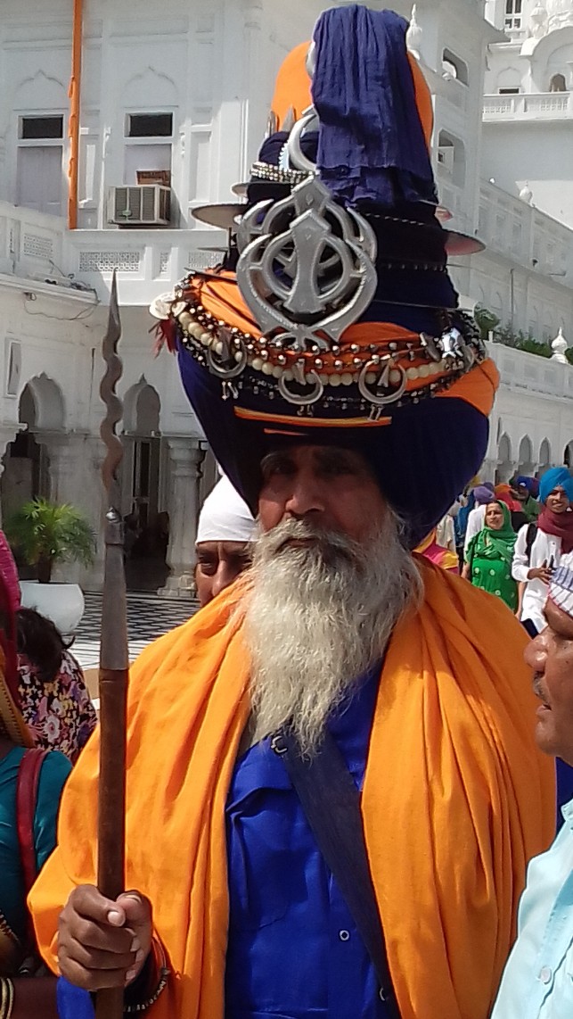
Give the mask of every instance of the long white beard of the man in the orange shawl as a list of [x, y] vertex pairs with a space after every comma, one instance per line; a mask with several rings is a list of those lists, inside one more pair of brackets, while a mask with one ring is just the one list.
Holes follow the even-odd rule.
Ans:
[[252, 662], [253, 742], [286, 726], [312, 754], [328, 716], [383, 656], [406, 607], [419, 601], [419, 573], [389, 509], [364, 544], [283, 521], [260, 534], [250, 573], [241, 609]]

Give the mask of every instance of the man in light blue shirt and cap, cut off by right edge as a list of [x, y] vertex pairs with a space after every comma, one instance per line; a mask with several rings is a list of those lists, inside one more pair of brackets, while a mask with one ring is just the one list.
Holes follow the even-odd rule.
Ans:
[[[540, 700], [536, 740], [541, 750], [573, 765], [573, 570], [553, 575], [546, 629], [525, 658]], [[547, 853], [527, 869], [518, 937], [509, 957], [492, 1019], [573, 1017], [573, 800]]]

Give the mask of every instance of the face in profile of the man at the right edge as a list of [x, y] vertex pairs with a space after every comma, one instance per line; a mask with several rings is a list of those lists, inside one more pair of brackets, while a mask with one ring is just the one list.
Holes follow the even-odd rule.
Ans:
[[545, 616], [546, 629], [525, 650], [541, 701], [535, 738], [545, 753], [573, 765], [573, 620], [553, 601], [547, 602]]

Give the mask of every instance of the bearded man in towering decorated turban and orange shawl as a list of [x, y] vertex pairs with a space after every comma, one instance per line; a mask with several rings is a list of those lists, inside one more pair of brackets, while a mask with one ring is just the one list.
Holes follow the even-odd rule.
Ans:
[[94, 888], [97, 740], [72, 776], [32, 894], [64, 1003], [483, 1019], [553, 834], [521, 628], [409, 551], [479, 468], [497, 373], [446, 270], [475, 242], [435, 215], [406, 28], [321, 16], [312, 107], [275, 118], [225, 264], [156, 303], [259, 538], [133, 669], [117, 902]]

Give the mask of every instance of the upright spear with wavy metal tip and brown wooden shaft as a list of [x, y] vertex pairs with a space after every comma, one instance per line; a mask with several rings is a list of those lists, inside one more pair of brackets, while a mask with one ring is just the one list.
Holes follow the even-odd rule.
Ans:
[[[103, 340], [106, 372], [100, 395], [107, 413], [101, 436], [107, 453], [102, 467], [109, 509], [105, 528], [105, 570], [100, 651], [100, 785], [98, 799], [98, 888], [108, 899], [125, 891], [125, 735], [127, 715], [127, 618], [123, 524], [118, 506], [118, 468], [123, 455], [116, 426], [122, 416], [115, 387], [122, 364], [117, 355], [121, 322], [113, 274], [108, 328]], [[97, 1019], [122, 1019], [123, 988], [99, 990]]]

